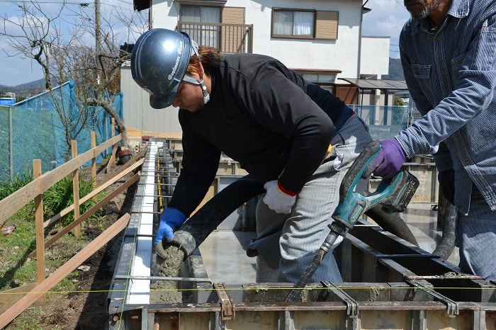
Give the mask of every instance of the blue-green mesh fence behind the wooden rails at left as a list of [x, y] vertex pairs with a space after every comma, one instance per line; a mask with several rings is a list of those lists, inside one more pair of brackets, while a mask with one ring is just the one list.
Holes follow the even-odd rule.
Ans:
[[[113, 108], [121, 118], [122, 102], [120, 93]], [[0, 180], [30, 171], [33, 159], [41, 160], [43, 173], [50, 171], [70, 159], [71, 140], [77, 141], [82, 154], [91, 148], [92, 131], [96, 132], [98, 145], [111, 138], [112, 129], [111, 118], [103, 108], [78, 106], [73, 81], [0, 107]], [[97, 162], [103, 157], [106, 152], [98, 156]]]

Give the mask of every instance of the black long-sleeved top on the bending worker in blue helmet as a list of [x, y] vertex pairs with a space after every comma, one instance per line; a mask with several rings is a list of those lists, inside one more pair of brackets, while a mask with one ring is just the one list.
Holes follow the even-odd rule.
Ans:
[[221, 152], [261, 183], [280, 176], [298, 193], [325, 157], [334, 126], [351, 115], [339, 98], [271, 57], [225, 55], [211, 79], [201, 110], [179, 110], [183, 169], [169, 206], [185, 215], [203, 199]]

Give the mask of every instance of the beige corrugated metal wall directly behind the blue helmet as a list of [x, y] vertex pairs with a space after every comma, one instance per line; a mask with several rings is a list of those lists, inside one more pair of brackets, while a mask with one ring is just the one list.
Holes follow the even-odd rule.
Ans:
[[126, 127], [142, 132], [181, 133], [177, 118], [178, 108], [154, 109], [150, 106], [147, 91], [138, 86], [131, 76], [131, 68], [120, 70], [120, 89], [124, 93], [124, 120]]

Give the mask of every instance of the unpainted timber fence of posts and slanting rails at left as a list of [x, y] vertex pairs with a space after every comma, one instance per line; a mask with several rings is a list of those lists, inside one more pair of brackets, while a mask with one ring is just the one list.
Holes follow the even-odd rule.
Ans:
[[[122, 140], [121, 135], [117, 135], [115, 137], [111, 137], [111, 139], [107, 140], [106, 142], [103, 142], [102, 144], [96, 146], [96, 143], [94, 141], [94, 133], [91, 134], [91, 149], [87, 152], [84, 152], [84, 154], [80, 154], [79, 156], [77, 155], [77, 144], [76, 142], [72, 142], [72, 149], [73, 149], [73, 154], [72, 154], [72, 159], [67, 161], [65, 164], [62, 164], [61, 166], [57, 167], [56, 169], [53, 169], [52, 171], [48, 171], [46, 173], [41, 173], [41, 166], [40, 166], [40, 161], [39, 159], [35, 159], [33, 161], [33, 181], [28, 183], [26, 186], [23, 186], [23, 188], [17, 190], [15, 193], [12, 193], [11, 195], [7, 196], [3, 200], [0, 200], [0, 226], [4, 224], [9, 218], [14, 215], [16, 212], [21, 210], [25, 205], [30, 203], [32, 200], [35, 202], [35, 230], [36, 230], [36, 249], [33, 251], [29, 256], [33, 257], [34, 255], [36, 256], [36, 263], [37, 263], [37, 285], [34, 284], [29, 284], [25, 285], [23, 287], [24, 290], [23, 292], [28, 292], [26, 294], [26, 297], [23, 297], [21, 295], [21, 292], [15, 294], [15, 298], [13, 295], [6, 294], [5, 297], [2, 297], [2, 293], [0, 292], [0, 329], [7, 324], [2, 323], [6, 321], [6, 319], [9, 320], [9, 322], [15, 318], [18, 314], [20, 314], [23, 309], [26, 309], [32, 302], [34, 302], [36, 299], [39, 297], [43, 296], [43, 293], [41, 295], [34, 295], [30, 292], [33, 290], [33, 288], [41, 288], [45, 283], [50, 283], [50, 285], [47, 285], [47, 287], [43, 287], [43, 289], [51, 288], [52, 285], [55, 285], [58, 283], [62, 278], [72, 269], [74, 269], [74, 266], [76, 265], [74, 261], [74, 265], [70, 265], [70, 267], [67, 266], [68, 263], [73, 263], [71, 261], [68, 261], [68, 263], [64, 264], [57, 270], [55, 273], [57, 276], [54, 276], [52, 274], [50, 278], [45, 278], [45, 249], [53, 244], [57, 239], [60, 239], [62, 237], [62, 234], [67, 234], [70, 230], [74, 229], [74, 233], [77, 234], [77, 228], [79, 227], [79, 224], [86, 220], [89, 216], [91, 216], [94, 212], [96, 212], [98, 209], [103, 207], [106, 203], [108, 203], [111, 199], [115, 197], [115, 195], [118, 195], [118, 193], [123, 192], [126, 188], [129, 188], [133, 183], [136, 183], [139, 181], [139, 176], [140, 174], [135, 174], [132, 178], [130, 178], [128, 181], [123, 183], [120, 187], [116, 188], [112, 193], [109, 193], [103, 200], [100, 202], [96, 203], [94, 207], [91, 207], [90, 210], [86, 211], [83, 215], [79, 215], [79, 205], [81, 203], [86, 202], [90, 198], [94, 198], [98, 193], [101, 193], [103, 190], [108, 188], [112, 183], [115, 183], [116, 181], [120, 180], [120, 178], [123, 178], [126, 174], [130, 173], [133, 170], [136, 170], [141, 164], [143, 163], [143, 156], [145, 155], [146, 149], [143, 149], [142, 151], [138, 152], [135, 157], [133, 157], [133, 161], [128, 161], [126, 164], [120, 167], [120, 169], [116, 170], [115, 173], [113, 173], [113, 176], [110, 178], [106, 178], [105, 181], [101, 183], [101, 186], [96, 186], [96, 157], [100, 155], [102, 152], [104, 152], [108, 148], [113, 148], [112, 154], [111, 154], [111, 159], [109, 160], [110, 162], [115, 162], [115, 150], [118, 147], [118, 144], [120, 143], [120, 140]], [[88, 161], [91, 161], [91, 173], [92, 177], [94, 179], [94, 190], [92, 190], [88, 195], [84, 196], [83, 198], [79, 197], [79, 189], [78, 189], [78, 184], [76, 180], [79, 178], [79, 168], [83, 165], [86, 164]], [[106, 171], [110, 169], [111, 166], [107, 166]], [[66, 207], [64, 210], [62, 210], [60, 213], [57, 215], [54, 215], [50, 220], [44, 221], [43, 220], [43, 193], [47, 191], [50, 187], [55, 185], [58, 181], [62, 180], [62, 178], [65, 178], [66, 176], [69, 176], [72, 174], [73, 178], [73, 188], [74, 188], [74, 203], [70, 205], [69, 207]], [[45, 242], [45, 237], [44, 237], [44, 229], [54, 223], [57, 222], [57, 220], [60, 220], [64, 215], [67, 215], [69, 212], [74, 212], [74, 220], [71, 222], [71, 224], [68, 224], [66, 227], [64, 227], [61, 231], [60, 234], [57, 234], [55, 237], [52, 237], [52, 239], [48, 240]], [[117, 226], [112, 226], [115, 227], [113, 230], [107, 230], [103, 234], [100, 235], [101, 241], [98, 241], [98, 237], [94, 241], [94, 246], [96, 247], [101, 247], [103, 246], [103, 243], [112, 239], [118, 232], [120, 232], [121, 229], [123, 229], [123, 226], [125, 227], [125, 224], [127, 224], [129, 220], [129, 215], [126, 215], [125, 217], [121, 218], [116, 222], [115, 224]], [[111, 229], [111, 228], [109, 228]], [[106, 234], [108, 232], [108, 234]], [[111, 236], [113, 235], [113, 236]], [[95, 248], [96, 249], [96, 248]], [[91, 249], [91, 251], [94, 251], [94, 249]], [[81, 251], [82, 252], [82, 251]], [[94, 253], [94, 252], [93, 252]], [[81, 253], [77, 254], [76, 256], [80, 256]], [[84, 254], [84, 258], [79, 258], [79, 261], [82, 263], [84, 260], [86, 260], [87, 257], [89, 257], [88, 253]], [[64, 275], [62, 275], [62, 273]], [[16, 292], [21, 289], [21, 288], [16, 288]], [[8, 290], [9, 291], [9, 290]], [[40, 290], [43, 292], [43, 290]], [[14, 292], [14, 293], [16, 293]], [[35, 293], [35, 292], [34, 292]], [[28, 298], [29, 297], [29, 298]], [[12, 305], [13, 302], [19, 301], [23, 302], [21, 305], [14, 304]], [[25, 302], [26, 301], [26, 302]], [[29, 301], [29, 302], [28, 302]], [[11, 306], [8, 310], [6, 310], [4, 307]], [[16, 307], [16, 308], [14, 308]]]

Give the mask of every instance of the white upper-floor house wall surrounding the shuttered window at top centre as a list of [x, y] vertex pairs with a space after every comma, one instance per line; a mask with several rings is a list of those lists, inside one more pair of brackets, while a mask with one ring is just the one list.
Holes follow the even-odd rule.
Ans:
[[[361, 0], [246, 1], [227, 0], [226, 7], [244, 7], [245, 23], [254, 25], [253, 52], [281, 60], [300, 69], [339, 69], [343, 77], [355, 77], [359, 63]], [[337, 40], [271, 38], [272, 8], [338, 11]], [[174, 30], [180, 3], [153, 0], [152, 27]], [[338, 76], [339, 77], [339, 76]]]

